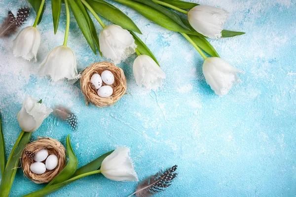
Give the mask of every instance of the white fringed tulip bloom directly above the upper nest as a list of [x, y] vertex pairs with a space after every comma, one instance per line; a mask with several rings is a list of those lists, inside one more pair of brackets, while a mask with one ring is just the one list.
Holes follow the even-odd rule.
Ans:
[[114, 64], [135, 53], [137, 47], [132, 34], [118, 25], [106, 26], [100, 32], [99, 44], [102, 54]]

